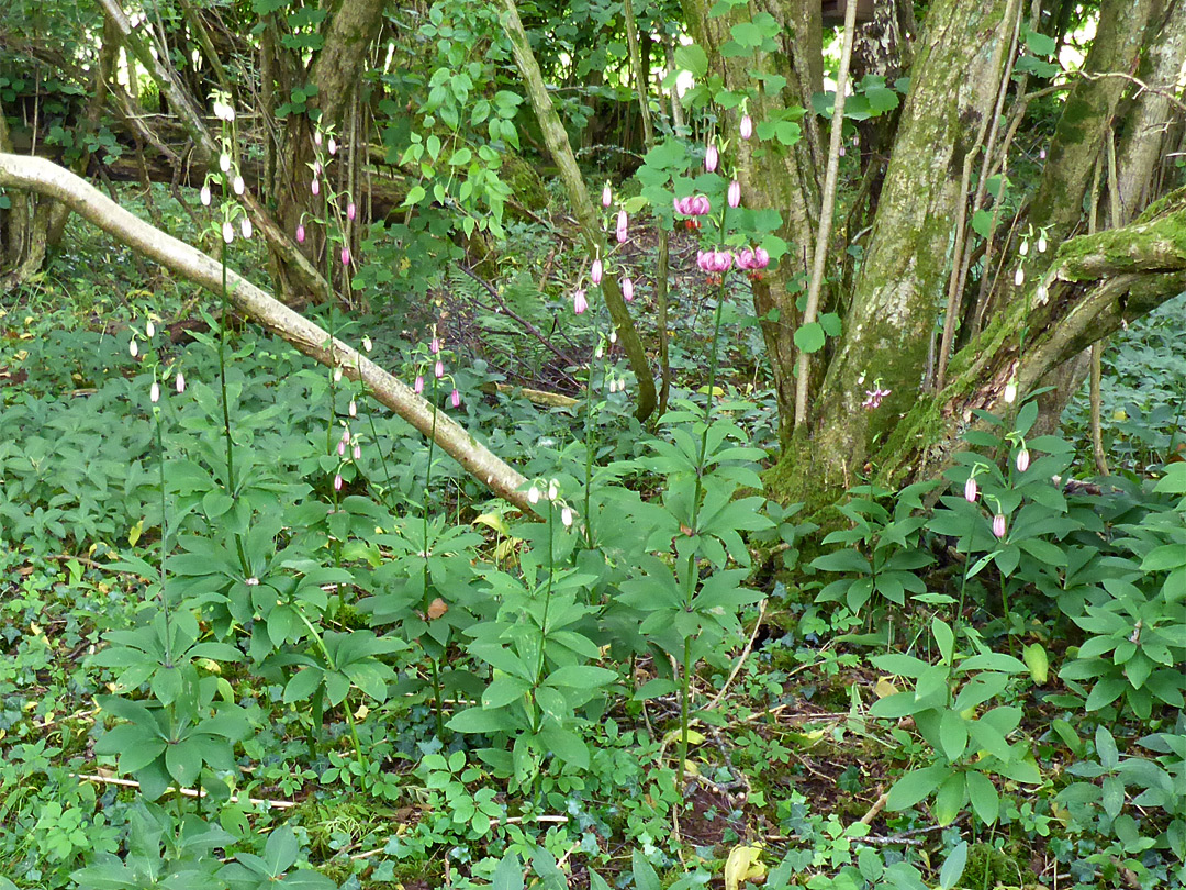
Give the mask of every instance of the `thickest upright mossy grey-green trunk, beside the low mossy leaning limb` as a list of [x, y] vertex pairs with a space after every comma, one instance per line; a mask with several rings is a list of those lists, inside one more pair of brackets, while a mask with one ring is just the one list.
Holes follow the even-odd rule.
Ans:
[[[965, 199], [964, 157], [994, 107], [997, 44], [1012, 34], [1006, 6], [938, 0], [927, 13], [872, 241], [817, 400], [817, 472], [827, 485], [847, 485], [874, 443], [918, 400], [936, 294], [943, 292], [951, 231]], [[867, 411], [866, 392], [876, 387], [890, 395]]]

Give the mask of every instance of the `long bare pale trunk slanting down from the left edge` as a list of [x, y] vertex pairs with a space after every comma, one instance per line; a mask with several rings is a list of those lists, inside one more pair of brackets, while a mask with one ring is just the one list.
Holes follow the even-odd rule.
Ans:
[[[34, 192], [56, 201], [144, 256], [206, 290], [221, 293], [222, 266], [190, 244], [154, 229], [74, 173], [43, 158], [0, 154], [0, 187]], [[362, 381], [382, 403], [452, 456], [478, 482], [528, 514], [527, 481], [496, 457], [457, 421], [416, 395], [401, 380], [346, 343], [228, 269], [228, 295], [246, 316], [286, 339], [305, 355], [350, 380]], [[435, 415], [435, 419], [434, 419]]]

